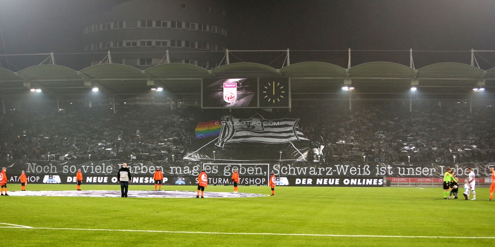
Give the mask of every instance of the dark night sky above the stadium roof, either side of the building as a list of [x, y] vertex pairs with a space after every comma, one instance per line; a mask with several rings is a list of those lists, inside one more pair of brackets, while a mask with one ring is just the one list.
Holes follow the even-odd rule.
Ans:
[[[81, 52], [80, 18], [119, 2], [123, 1], [1, 0], [6, 49], [0, 43], [0, 54]], [[297, 50], [495, 50], [495, 1], [490, 0], [229, 0], [227, 13], [230, 50], [289, 48], [291, 63], [314, 60], [347, 66], [346, 52]], [[243, 61], [265, 63], [281, 55], [234, 54]], [[494, 54], [479, 54], [488, 60], [478, 57], [482, 68], [493, 67], [489, 63], [495, 64]], [[58, 58], [58, 64], [70, 67], [63, 55]], [[4, 59], [0, 61], [7, 67]], [[380, 60], [409, 65], [409, 54], [352, 53], [352, 65]], [[435, 62], [469, 63], [470, 54], [417, 52], [414, 61], [416, 68]], [[283, 58], [271, 65], [279, 67], [281, 62]]]

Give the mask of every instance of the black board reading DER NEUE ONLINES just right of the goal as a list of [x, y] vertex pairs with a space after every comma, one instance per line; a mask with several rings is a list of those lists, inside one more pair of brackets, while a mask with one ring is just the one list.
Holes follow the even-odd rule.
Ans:
[[383, 178], [280, 177], [280, 186], [383, 187]]

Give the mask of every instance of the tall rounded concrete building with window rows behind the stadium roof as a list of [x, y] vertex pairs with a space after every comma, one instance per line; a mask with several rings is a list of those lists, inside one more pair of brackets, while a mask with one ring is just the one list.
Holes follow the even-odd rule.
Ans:
[[[218, 66], [227, 46], [226, 0], [129, 0], [83, 20], [85, 66], [147, 69], [163, 63]], [[167, 53], [168, 50], [168, 53]]]

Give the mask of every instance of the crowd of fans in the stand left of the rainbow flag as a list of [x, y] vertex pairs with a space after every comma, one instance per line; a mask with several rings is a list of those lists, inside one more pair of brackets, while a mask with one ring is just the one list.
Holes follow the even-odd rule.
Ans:
[[154, 105], [64, 111], [15, 110], [0, 118], [0, 155], [29, 160], [180, 160], [195, 123]]

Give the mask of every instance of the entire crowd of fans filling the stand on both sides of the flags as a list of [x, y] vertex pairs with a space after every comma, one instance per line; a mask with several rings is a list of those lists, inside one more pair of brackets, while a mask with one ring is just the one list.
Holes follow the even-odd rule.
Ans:
[[[103, 109], [104, 108], [104, 109]], [[179, 161], [194, 142], [200, 121], [224, 114], [249, 117], [260, 110], [201, 110], [128, 105], [64, 111], [11, 111], [0, 116], [0, 159]], [[214, 114], [213, 114], [214, 113]], [[297, 106], [262, 113], [300, 118], [310, 140], [309, 161], [495, 162], [495, 109], [397, 103]]]

